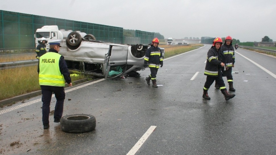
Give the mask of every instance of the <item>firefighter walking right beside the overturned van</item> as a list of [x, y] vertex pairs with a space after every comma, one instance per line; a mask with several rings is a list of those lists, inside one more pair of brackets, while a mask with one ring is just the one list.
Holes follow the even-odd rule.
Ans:
[[144, 61], [144, 67], [147, 67], [147, 62], [149, 63], [150, 75], [146, 78], [147, 84], [150, 85], [150, 80], [152, 80], [152, 87], [157, 88], [156, 85], [156, 74], [159, 68], [163, 66], [163, 57], [161, 49], [158, 47], [159, 40], [154, 38], [150, 48], [147, 49]]

